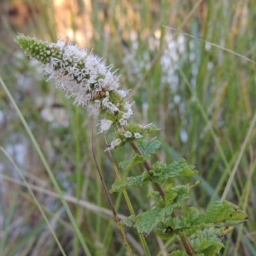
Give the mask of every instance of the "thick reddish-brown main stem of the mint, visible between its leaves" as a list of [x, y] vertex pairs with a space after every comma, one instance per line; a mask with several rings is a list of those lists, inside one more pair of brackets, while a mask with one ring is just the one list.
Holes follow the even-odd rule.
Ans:
[[[131, 143], [131, 146], [132, 146], [132, 148], [134, 149], [134, 151], [135, 151], [138, 155], [143, 156], [143, 153], [141, 152], [140, 148], [139, 148], [134, 142], [130, 142], [130, 143]], [[148, 160], [145, 160], [145, 161], [143, 162], [143, 165], [145, 166], [145, 168], [146, 168], [148, 174], [150, 175], [150, 177], [152, 177], [152, 173], [150, 172], [150, 170], [152, 170], [152, 168], [151, 168], [151, 164], [148, 162]], [[161, 186], [160, 186], [159, 184], [156, 184], [156, 182], [154, 182], [153, 180], [152, 180], [152, 182], [155, 184], [157, 190], [159, 191], [161, 197], [162, 197], [163, 200], [164, 200], [164, 195], [165, 195], [165, 193], [164, 193], [164, 191], [163, 191], [163, 188], [161, 188]], [[173, 215], [174, 217], [177, 216], [177, 215], [175, 214], [175, 212], [173, 212], [172, 215]], [[180, 237], [180, 240], [181, 240], [181, 242], [182, 242], [182, 244], [183, 244], [183, 246], [184, 246], [186, 252], [188, 253], [188, 255], [189, 255], [189, 256], [195, 255], [195, 252], [193, 251], [193, 248], [192, 248], [191, 244], [189, 243], [188, 237], [187, 237], [185, 234], [179, 234], [179, 237]]]

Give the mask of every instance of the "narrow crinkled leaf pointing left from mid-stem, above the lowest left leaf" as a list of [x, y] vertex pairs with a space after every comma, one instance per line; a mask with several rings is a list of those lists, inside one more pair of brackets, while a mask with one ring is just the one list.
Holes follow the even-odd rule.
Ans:
[[148, 184], [149, 175], [147, 172], [143, 172], [142, 175], [135, 176], [135, 177], [127, 177], [124, 181], [123, 180], [115, 180], [115, 183], [112, 185], [111, 189], [109, 190], [110, 194], [117, 193], [123, 191], [124, 189], [130, 187], [141, 187]]

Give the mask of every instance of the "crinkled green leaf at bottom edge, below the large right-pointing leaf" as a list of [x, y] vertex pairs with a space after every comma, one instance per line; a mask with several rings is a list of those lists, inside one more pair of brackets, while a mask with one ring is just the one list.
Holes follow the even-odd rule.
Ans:
[[191, 237], [191, 246], [196, 252], [204, 253], [205, 256], [212, 256], [219, 253], [224, 247], [220, 238], [219, 229], [197, 230]]

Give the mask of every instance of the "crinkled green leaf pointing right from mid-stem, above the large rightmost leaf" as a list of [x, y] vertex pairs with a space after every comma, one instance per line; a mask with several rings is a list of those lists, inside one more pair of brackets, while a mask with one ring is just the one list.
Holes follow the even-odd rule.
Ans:
[[178, 162], [173, 161], [173, 163], [166, 166], [162, 162], [157, 162], [152, 165], [153, 173], [152, 179], [157, 184], [161, 185], [164, 180], [169, 178], [175, 178], [183, 175], [198, 175], [198, 171], [195, 170], [195, 166], [187, 164], [185, 159], [180, 159]]

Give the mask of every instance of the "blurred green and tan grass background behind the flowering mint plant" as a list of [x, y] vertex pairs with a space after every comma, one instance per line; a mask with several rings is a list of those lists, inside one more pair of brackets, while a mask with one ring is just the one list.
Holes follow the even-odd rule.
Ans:
[[[92, 118], [46, 82], [40, 65], [24, 57], [13, 42], [18, 32], [50, 41], [67, 36], [119, 68], [122, 87], [132, 89], [131, 101], [136, 102], [134, 120], [161, 128], [154, 134], [162, 141], [157, 158], [171, 163], [184, 157], [197, 164], [202, 184], [192, 189], [188, 206], [204, 211], [223, 196], [250, 216], [224, 239], [221, 255], [256, 255], [256, 65], [163, 27], [178, 28], [255, 60], [254, 1], [6, 0], [0, 4], [1, 79], [39, 143], [92, 255], [125, 255], [92, 158]], [[35, 143], [2, 86], [0, 109], [0, 255], [62, 255], [12, 161], [33, 189], [65, 253], [86, 255]], [[116, 175], [102, 135], [95, 137], [95, 147], [110, 189]], [[127, 145], [113, 157], [119, 163], [131, 154]], [[129, 172], [141, 173], [142, 167]], [[122, 170], [120, 174], [127, 176]], [[136, 213], [152, 204], [146, 190], [128, 193]], [[120, 218], [128, 216], [122, 194], [112, 198]], [[125, 231], [136, 255], [144, 255], [136, 230]], [[161, 241], [153, 234], [147, 244], [152, 255], [179, 248], [177, 241]]]

